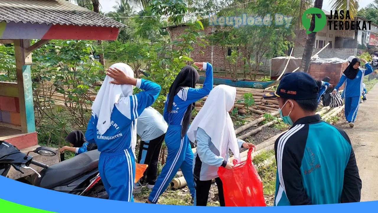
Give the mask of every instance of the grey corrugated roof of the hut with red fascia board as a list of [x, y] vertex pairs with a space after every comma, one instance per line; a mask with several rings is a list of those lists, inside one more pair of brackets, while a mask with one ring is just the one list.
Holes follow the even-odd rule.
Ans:
[[0, 22], [126, 27], [65, 0], [0, 0]]

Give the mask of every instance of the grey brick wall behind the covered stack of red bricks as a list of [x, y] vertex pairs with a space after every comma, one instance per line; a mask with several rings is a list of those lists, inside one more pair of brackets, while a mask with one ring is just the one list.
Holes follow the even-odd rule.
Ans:
[[[294, 47], [293, 55], [296, 58], [302, 58], [304, 47]], [[312, 54], [314, 55], [321, 49], [313, 49]], [[347, 59], [351, 55], [356, 55], [357, 49], [347, 49], [347, 48], [340, 48], [340, 49], [324, 49], [322, 52], [319, 53], [319, 58], [340, 58], [340, 59]]]

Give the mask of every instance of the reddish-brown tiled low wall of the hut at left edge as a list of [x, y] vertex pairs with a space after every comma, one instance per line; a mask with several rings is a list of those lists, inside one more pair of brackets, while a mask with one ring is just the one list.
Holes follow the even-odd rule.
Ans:
[[21, 125], [19, 98], [0, 96], [0, 122]]

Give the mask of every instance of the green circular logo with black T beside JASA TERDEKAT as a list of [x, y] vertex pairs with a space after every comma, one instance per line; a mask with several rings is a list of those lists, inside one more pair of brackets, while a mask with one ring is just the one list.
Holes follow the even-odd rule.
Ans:
[[[310, 14], [321, 14], [320, 19], [318, 18], [318, 16], [315, 16], [315, 28], [313, 31], [309, 31], [310, 25], [311, 25], [311, 17], [312, 17], [312, 16], [309, 16]], [[327, 17], [325, 16], [325, 13], [319, 8], [308, 8], [302, 15], [302, 24], [307, 30], [306, 31], [307, 34], [321, 31], [324, 28], [326, 22], [327, 22]]]

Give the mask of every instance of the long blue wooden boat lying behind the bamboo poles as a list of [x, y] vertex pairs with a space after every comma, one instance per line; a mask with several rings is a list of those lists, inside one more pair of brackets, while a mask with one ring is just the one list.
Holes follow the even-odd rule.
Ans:
[[[199, 84], [203, 84], [205, 80], [204, 75], [200, 75], [200, 79], [198, 80]], [[223, 76], [213, 76], [214, 85], [228, 85], [234, 87], [241, 87], [241, 88], [253, 88], [253, 89], [265, 89], [270, 86], [278, 85], [280, 81], [254, 81], [245, 78], [229, 78]]]

